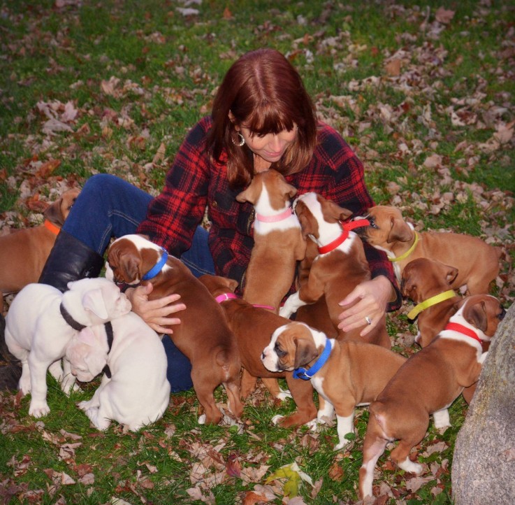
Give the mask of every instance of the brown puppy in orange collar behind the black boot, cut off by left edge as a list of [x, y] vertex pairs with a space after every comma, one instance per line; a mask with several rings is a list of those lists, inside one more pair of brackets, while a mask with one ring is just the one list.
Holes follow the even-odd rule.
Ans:
[[13, 230], [0, 236], [0, 292], [17, 293], [30, 283], [37, 283], [43, 266], [54, 246], [64, 220], [80, 190], [73, 188], [43, 212], [41, 226]]

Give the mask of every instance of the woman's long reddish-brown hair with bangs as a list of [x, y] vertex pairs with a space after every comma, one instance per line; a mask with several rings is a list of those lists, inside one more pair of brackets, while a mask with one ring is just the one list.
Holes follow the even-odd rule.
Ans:
[[310, 162], [317, 142], [312, 100], [296, 69], [273, 49], [247, 52], [233, 63], [217, 91], [212, 119], [208, 148], [215, 162], [221, 162], [226, 152], [231, 187], [247, 185], [254, 175], [252, 152], [247, 145], [234, 143], [238, 143], [236, 126], [245, 125], [256, 135], [298, 127], [296, 140], [270, 166], [283, 175], [302, 170]]

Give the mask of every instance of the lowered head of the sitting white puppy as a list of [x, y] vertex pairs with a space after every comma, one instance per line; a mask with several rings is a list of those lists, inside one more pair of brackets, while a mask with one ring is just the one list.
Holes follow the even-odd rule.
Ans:
[[99, 375], [108, 360], [103, 325], [85, 327], [74, 336], [66, 348], [66, 359], [80, 382], [89, 382]]

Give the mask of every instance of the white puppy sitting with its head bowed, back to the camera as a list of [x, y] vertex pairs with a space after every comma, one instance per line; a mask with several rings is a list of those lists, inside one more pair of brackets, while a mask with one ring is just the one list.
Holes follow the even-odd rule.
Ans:
[[92, 399], [78, 403], [94, 427], [106, 430], [114, 420], [136, 432], [160, 419], [170, 401], [166, 353], [139, 315], [129, 312], [110, 325], [83, 329], [68, 345], [66, 357], [71, 373], [82, 382], [109, 367]]

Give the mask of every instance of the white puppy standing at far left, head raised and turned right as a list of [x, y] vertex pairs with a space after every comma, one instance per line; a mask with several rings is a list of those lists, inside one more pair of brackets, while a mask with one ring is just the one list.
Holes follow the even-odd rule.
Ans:
[[84, 278], [68, 283], [61, 293], [46, 284], [25, 286], [10, 304], [6, 316], [6, 344], [22, 362], [20, 391], [31, 393], [29, 414], [41, 418], [50, 412], [47, 404], [46, 372], [61, 381], [65, 393], [75, 377], [70, 365], [61, 358], [66, 347], [81, 329], [118, 318], [131, 310], [131, 303], [118, 287], [106, 278]]

